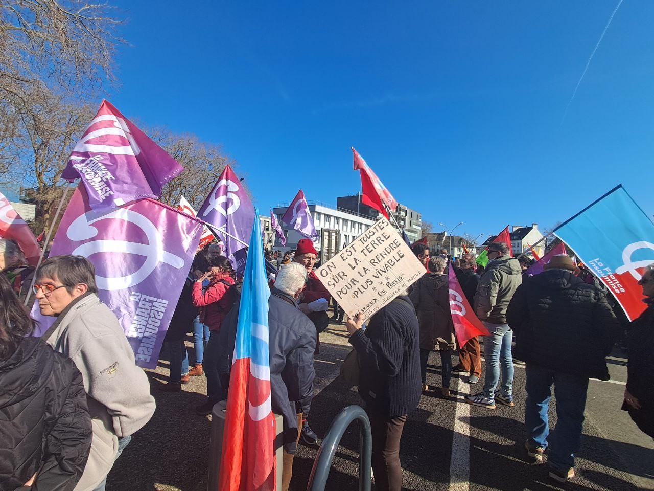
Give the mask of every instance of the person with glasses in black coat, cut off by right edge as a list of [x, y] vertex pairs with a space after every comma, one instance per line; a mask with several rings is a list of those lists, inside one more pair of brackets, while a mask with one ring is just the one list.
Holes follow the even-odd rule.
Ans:
[[647, 308], [629, 326], [627, 388], [622, 409], [654, 438], [654, 264], [645, 268], [638, 284], [643, 288]]

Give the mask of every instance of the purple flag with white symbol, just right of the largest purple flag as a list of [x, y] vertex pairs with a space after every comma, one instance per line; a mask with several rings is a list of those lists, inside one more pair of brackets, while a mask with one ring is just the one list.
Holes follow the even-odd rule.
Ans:
[[198, 218], [220, 234], [225, 244], [225, 255], [232, 261], [234, 269], [242, 275], [245, 270], [245, 258], [236, 253], [250, 242], [254, 206], [230, 166], [226, 166], [220, 174], [218, 182], [198, 211]]

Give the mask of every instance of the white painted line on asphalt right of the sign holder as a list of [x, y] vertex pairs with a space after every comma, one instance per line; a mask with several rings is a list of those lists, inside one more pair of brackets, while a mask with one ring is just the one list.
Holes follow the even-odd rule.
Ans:
[[[470, 384], [458, 378], [456, 390], [465, 397], [470, 393]], [[470, 404], [463, 399], [456, 400], [448, 489], [470, 491]]]

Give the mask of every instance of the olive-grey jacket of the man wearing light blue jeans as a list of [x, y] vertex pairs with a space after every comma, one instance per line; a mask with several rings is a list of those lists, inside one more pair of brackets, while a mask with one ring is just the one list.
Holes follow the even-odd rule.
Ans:
[[506, 309], [522, 283], [522, 268], [508, 254], [487, 264], [475, 293], [475, 313], [482, 321], [506, 324]]

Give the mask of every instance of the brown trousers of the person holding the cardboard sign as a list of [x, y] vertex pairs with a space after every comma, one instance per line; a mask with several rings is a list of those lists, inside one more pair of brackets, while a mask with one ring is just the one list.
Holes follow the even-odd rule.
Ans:
[[366, 412], [372, 429], [372, 470], [375, 474], [375, 490], [402, 490], [402, 464], [400, 464], [400, 439], [407, 415], [391, 418], [387, 414], [367, 407]]

